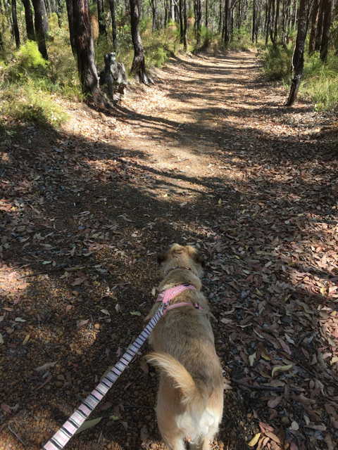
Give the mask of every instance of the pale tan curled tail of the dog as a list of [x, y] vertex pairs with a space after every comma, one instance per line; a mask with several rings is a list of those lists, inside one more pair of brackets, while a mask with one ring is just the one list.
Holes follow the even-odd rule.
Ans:
[[174, 387], [179, 389], [182, 393], [182, 403], [189, 404], [191, 402], [203, 402], [204, 397], [192, 375], [187, 369], [177, 361], [177, 359], [170, 356], [168, 353], [149, 353], [146, 355], [146, 361], [152, 366], [158, 367], [161, 371], [168, 375], [173, 380]]

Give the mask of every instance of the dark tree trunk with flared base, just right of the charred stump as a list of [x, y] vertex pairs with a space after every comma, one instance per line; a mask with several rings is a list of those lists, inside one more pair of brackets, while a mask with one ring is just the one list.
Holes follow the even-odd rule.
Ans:
[[139, 0], [129, 0], [130, 2], [130, 25], [132, 32], [132, 44], [134, 46], [134, 59], [130, 72], [139, 82], [144, 84], [152, 83], [153, 80], [146, 73], [146, 62], [144, 60], [144, 50], [142, 46], [141, 36], [139, 35], [139, 15], [141, 8]]

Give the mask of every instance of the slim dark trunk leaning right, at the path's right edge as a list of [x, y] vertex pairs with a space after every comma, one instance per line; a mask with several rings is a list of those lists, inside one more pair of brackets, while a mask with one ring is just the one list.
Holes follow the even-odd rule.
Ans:
[[308, 17], [307, 0], [299, 1], [298, 12], [298, 27], [296, 45], [294, 47], [294, 56], [292, 58], [293, 77], [289, 92], [289, 98], [287, 99], [287, 106], [292, 106], [296, 101], [296, 97], [299, 90], [299, 84], [301, 83], [301, 76], [303, 75], [304, 66], [304, 46], [306, 39], [306, 22]]

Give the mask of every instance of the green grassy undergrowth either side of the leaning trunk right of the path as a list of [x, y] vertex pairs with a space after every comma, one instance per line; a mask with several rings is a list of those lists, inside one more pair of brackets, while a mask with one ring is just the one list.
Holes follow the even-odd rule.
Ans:
[[[269, 45], [263, 49], [263, 72], [269, 81], [280, 81], [289, 87], [292, 77], [291, 44], [282, 46]], [[315, 110], [333, 111], [338, 109], [338, 56], [329, 53], [327, 63], [322, 63], [318, 52], [304, 58], [303, 77], [299, 96], [313, 103]]]

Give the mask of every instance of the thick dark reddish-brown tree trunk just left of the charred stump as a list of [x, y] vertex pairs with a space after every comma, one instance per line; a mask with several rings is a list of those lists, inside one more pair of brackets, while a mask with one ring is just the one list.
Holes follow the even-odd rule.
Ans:
[[90, 28], [88, 0], [68, 0], [73, 4], [73, 36], [77, 56], [77, 71], [79, 72], [82, 93], [92, 98], [96, 103], [102, 101], [99, 89], [99, 76], [94, 63], [94, 42]]

